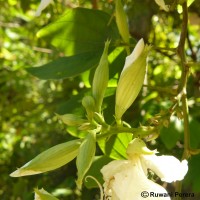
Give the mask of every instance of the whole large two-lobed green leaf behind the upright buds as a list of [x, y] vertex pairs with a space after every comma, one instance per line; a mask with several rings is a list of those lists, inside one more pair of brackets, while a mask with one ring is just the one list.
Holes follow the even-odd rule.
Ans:
[[68, 57], [28, 68], [27, 71], [40, 79], [63, 79], [97, 66], [105, 41], [109, 39], [113, 44], [120, 38], [114, 21], [109, 23], [110, 17], [98, 10], [68, 10], [37, 34], [64, 51]]

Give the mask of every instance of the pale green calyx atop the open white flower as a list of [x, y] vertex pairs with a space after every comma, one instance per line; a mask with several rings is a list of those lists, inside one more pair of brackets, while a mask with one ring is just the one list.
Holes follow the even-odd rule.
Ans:
[[128, 157], [131, 158], [135, 156], [135, 154], [151, 155], [156, 152], [149, 150], [143, 140], [135, 138], [129, 143], [126, 153]]

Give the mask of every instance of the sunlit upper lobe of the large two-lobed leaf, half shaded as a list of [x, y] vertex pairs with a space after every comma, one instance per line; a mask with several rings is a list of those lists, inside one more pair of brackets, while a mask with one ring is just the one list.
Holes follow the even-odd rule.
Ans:
[[67, 55], [102, 52], [104, 42], [120, 39], [111, 16], [103, 11], [86, 8], [68, 9], [57, 21], [41, 29], [37, 36], [50, 41]]

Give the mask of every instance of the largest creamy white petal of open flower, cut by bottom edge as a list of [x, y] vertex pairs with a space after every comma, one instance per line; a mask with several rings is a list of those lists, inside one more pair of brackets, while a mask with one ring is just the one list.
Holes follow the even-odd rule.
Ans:
[[[106, 181], [105, 192], [112, 196], [112, 200], [144, 200], [141, 196], [143, 191], [167, 194], [163, 187], [147, 179], [139, 158], [133, 161], [112, 161], [104, 166], [101, 172]], [[109, 179], [106, 175], [109, 175]], [[145, 199], [154, 200], [155, 197]], [[169, 197], [157, 197], [156, 199], [170, 200]]]

